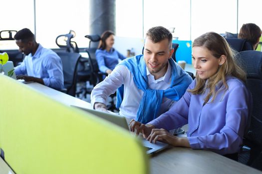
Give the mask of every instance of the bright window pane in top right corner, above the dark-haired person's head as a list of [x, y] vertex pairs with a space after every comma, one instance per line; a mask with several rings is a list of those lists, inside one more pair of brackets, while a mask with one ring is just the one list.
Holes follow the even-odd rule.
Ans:
[[244, 23], [255, 23], [262, 28], [262, 0], [239, 0], [239, 28]]

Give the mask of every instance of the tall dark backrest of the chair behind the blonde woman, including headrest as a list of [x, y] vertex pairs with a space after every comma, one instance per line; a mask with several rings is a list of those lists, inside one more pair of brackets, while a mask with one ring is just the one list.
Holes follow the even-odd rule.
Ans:
[[245, 138], [262, 145], [262, 52], [243, 51], [238, 53], [237, 61], [247, 73], [247, 87], [252, 93], [253, 108], [250, 128]]

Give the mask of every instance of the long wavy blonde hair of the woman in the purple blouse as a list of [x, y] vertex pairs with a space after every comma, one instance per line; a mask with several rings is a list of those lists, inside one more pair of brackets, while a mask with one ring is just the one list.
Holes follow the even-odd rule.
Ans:
[[196, 38], [192, 47], [205, 47], [217, 59], [222, 55], [226, 56], [225, 63], [219, 66], [217, 73], [211, 76], [208, 81], [206, 79], [200, 79], [199, 76], [196, 75], [196, 87], [189, 90], [192, 94], [203, 94], [206, 90], [209, 90], [204, 100], [207, 103], [210, 97], [213, 96], [211, 100], [211, 102], [213, 102], [218, 93], [218, 91], [216, 91], [216, 85], [220, 81], [223, 82], [225, 86], [224, 89], [228, 89], [228, 84], [226, 82], [227, 76], [234, 76], [246, 82], [246, 73], [236, 64], [234, 51], [230, 48], [226, 39], [220, 34], [207, 32]]

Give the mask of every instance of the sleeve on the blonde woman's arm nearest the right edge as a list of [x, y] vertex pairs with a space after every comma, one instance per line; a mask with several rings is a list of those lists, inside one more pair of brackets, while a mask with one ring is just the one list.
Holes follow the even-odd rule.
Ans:
[[221, 155], [236, 153], [240, 149], [252, 99], [244, 85], [229, 92], [225, 126], [213, 135], [188, 137], [192, 149], [210, 149]]

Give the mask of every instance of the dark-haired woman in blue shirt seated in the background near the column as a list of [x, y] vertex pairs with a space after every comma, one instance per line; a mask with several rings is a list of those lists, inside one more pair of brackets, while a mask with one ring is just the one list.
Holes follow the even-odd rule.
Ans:
[[98, 49], [95, 52], [99, 70], [103, 73], [111, 74], [112, 70], [118, 64], [118, 60], [124, 60], [126, 57], [113, 48], [114, 33], [105, 31], [101, 35]]

